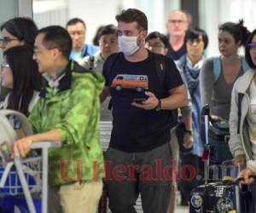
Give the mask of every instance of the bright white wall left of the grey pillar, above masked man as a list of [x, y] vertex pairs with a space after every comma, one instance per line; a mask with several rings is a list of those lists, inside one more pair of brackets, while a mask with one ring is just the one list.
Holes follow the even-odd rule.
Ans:
[[179, 0], [33, 0], [34, 20], [39, 27], [65, 26], [79, 17], [87, 25], [86, 43], [91, 43], [99, 26], [117, 25], [115, 15], [121, 9], [141, 9], [148, 17], [148, 32], [166, 32], [167, 14], [180, 7]]

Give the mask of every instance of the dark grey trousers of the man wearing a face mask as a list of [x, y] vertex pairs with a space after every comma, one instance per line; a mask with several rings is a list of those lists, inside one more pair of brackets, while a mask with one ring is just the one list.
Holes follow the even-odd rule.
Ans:
[[124, 153], [109, 147], [105, 159], [109, 208], [113, 213], [136, 212], [139, 193], [144, 212], [166, 213], [172, 185], [169, 143], [144, 153]]

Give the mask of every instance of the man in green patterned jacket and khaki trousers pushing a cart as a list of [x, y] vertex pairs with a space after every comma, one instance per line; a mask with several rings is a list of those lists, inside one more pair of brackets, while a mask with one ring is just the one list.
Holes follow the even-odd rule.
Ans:
[[49, 212], [96, 212], [104, 176], [98, 98], [104, 80], [69, 61], [71, 49], [61, 26], [38, 32], [33, 58], [48, 85], [30, 115], [36, 135], [16, 141], [14, 153], [26, 156], [33, 142], [61, 143], [49, 150]]

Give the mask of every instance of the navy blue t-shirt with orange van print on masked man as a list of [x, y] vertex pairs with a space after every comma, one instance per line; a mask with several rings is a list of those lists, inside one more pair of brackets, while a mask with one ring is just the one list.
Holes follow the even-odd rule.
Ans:
[[[142, 97], [144, 91], [137, 91], [123, 86], [116, 89], [116, 79], [148, 79], [148, 91], [158, 98], [170, 95], [168, 92], [183, 80], [174, 62], [165, 57], [165, 89], [162, 89], [160, 78], [155, 70], [154, 54], [148, 52], [148, 58], [139, 62], [125, 60], [123, 53], [110, 55], [103, 66], [106, 86], [110, 89], [113, 101], [113, 130], [110, 147], [128, 153], [146, 152], [160, 147], [171, 140], [172, 113], [169, 110], [144, 110], [131, 106], [134, 98]], [[124, 77], [124, 78], [123, 78]], [[128, 85], [128, 84], [127, 84]], [[164, 91], [163, 91], [164, 90]]]

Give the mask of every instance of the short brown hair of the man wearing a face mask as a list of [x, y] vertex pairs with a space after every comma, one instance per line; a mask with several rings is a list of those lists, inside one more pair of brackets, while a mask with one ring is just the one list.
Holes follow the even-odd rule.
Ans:
[[141, 10], [138, 10], [138, 9], [122, 10], [120, 14], [117, 14], [115, 16], [115, 19], [118, 22], [123, 21], [125, 23], [131, 23], [136, 21], [139, 27], [141, 26], [144, 28], [144, 30], [148, 30], [147, 16]]

